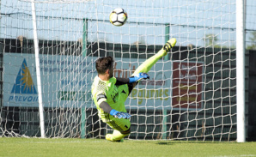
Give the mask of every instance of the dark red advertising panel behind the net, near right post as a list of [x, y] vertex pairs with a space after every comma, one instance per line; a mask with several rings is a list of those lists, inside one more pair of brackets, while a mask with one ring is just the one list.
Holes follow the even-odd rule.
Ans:
[[203, 65], [202, 62], [173, 63], [174, 108], [202, 108]]

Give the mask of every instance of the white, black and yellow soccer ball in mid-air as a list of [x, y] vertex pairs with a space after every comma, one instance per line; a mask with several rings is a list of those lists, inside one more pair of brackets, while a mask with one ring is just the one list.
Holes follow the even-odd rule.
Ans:
[[113, 9], [113, 11], [109, 15], [109, 21], [117, 27], [123, 26], [125, 21], [127, 21], [128, 16], [125, 12], [125, 9]]

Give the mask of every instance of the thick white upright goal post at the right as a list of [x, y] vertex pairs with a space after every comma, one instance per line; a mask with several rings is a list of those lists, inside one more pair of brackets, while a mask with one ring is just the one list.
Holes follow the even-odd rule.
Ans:
[[236, 103], [237, 103], [237, 142], [246, 142], [246, 1], [236, 0]]

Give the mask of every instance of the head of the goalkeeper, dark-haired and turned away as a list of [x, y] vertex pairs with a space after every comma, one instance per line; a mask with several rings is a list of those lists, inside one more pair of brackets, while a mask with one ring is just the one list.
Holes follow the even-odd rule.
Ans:
[[109, 78], [113, 77], [113, 57], [100, 57], [96, 60], [96, 70], [99, 75], [109, 75]]

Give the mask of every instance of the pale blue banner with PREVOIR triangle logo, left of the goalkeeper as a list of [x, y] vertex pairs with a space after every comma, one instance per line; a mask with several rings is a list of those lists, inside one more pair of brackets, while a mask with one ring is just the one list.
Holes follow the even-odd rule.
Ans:
[[[40, 55], [44, 107], [91, 106], [95, 59]], [[5, 53], [3, 68], [3, 106], [39, 106], [34, 55]]]

